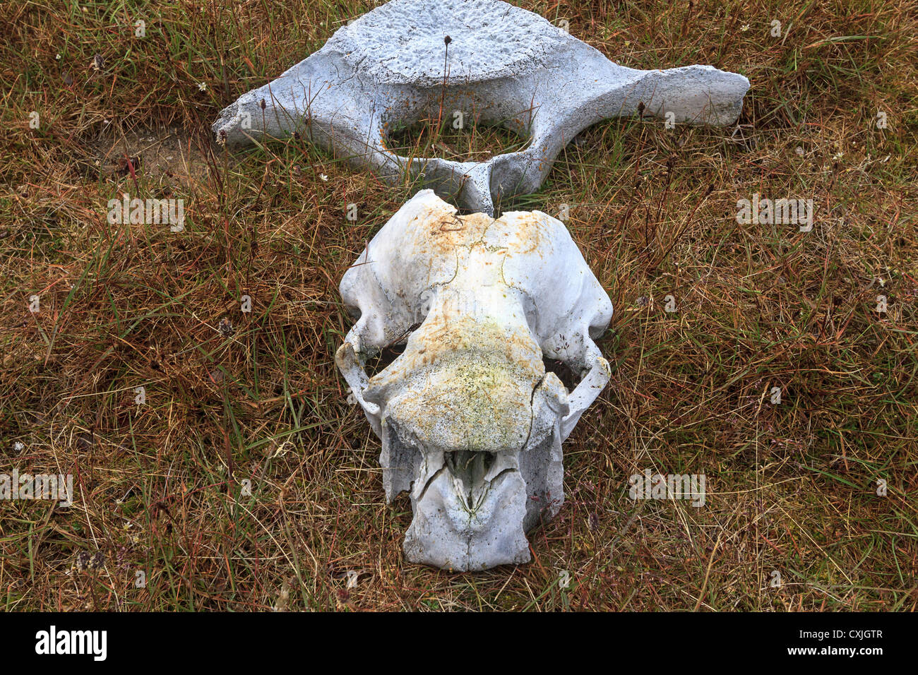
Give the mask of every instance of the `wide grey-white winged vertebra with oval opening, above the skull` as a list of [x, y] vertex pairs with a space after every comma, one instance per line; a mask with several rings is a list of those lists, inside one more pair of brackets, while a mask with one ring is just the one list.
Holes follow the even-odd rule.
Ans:
[[[213, 129], [230, 145], [299, 131], [387, 180], [421, 174], [442, 197], [491, 215], [495, 200], [537, 190], [558, 152], [601, 119], [640, 109], [672, 113], [673, 122], [733, 124], [748, 88], [743, 75], [706, 65], [625, 68], [498, 0], [393, 0], [241, 96]], [[389, 129], [453, 110], [514, 131], [527, 148], [481, 163], [386, 150]]]

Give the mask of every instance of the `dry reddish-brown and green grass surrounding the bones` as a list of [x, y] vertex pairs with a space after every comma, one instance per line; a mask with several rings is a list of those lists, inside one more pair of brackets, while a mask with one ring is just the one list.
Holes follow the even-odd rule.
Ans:
[[[75, 493], [0, 502], [0, 606], [915, 609], [913, 4], [521, 5], [623, 65], [752, 88], [732, 129], [588, 129], [513, 205], [568, 205], [615, 305], [613, 375], [532, 563], [477, 574], [403, 559], [408, 498], [386, 505], [334, 366], [341, 275], [418, 186], [300, 140], [210, 141], [222, 107], [372, 3], [0, 5], [0, 473], [72, 473]], [[514, 141], [489, 132], [448, 150]], [[185, 231], [109, 224], [123, 192], [185, 199]], [[755, 193], [812, 198], [813, 230], [737, 223]], [[645, 468], [703, 473], [705, 506], [632, 501]]]

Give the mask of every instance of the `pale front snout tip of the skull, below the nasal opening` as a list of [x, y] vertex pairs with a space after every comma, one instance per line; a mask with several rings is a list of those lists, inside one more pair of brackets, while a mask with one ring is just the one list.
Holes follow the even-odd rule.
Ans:
[[484, 455], [447, 453], [442, 468], [412, 491], [414, 519], [405, 535], [411, 562], [454, 571], [529, 562], [526, 483], [516, 458]]

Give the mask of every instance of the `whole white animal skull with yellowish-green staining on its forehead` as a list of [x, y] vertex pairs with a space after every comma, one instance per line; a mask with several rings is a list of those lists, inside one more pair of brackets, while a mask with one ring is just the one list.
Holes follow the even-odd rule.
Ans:
[[[408, 559], [529, 561], [526, 531], [564, 501], [561, 443], [610, 377], [593, 339], [612, 304], [565, 226], [541, 211], [458, 216], [422, 190], [344, 274], [341, 297], [357, 321], [336, 361], [382, 441], [386, 499], [410, 491]], [[396, 343], [405, 351], [368, 377], [366, 359]]]

